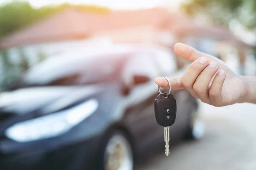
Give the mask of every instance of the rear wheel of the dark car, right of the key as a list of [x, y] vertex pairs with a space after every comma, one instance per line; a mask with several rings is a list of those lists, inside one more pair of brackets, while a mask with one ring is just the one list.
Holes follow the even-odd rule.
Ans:
[[198, 112], [194, 110], [189, 118], [189, 129], [185, 134], [185, 139], [201, 139], [204, 137], [204, 133], [204, 122], [199, 119]]

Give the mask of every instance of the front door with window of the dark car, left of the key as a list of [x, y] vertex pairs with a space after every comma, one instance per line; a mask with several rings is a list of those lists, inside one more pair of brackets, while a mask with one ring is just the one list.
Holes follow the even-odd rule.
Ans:
[[[145, 76], [148, 82], [136, 84], [132, 82], [134, 76]], [[157, 65], [152, 60], [152, 53], [141, 52], [134, 54], [123, 69], [125, 84], [132, 84], [127, 96], [130, 107], [125, 114], [124, 122], [134, 136], [137, 150], [144, 152], [155, 145], [155, 141], [162, 136], [163, 127], [157, 125], [154, 116], [154, 100], [158, 94], [154, 78], [159, 75]]]

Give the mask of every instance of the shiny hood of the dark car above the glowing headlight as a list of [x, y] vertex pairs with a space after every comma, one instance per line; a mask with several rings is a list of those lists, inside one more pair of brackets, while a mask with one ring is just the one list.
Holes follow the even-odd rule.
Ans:
[[99, 86], [49, 86], [22, 88], [0, 94], [0, 111], [17, 114], [41, 109], [50, 113], [67, 107], [99, 91]]

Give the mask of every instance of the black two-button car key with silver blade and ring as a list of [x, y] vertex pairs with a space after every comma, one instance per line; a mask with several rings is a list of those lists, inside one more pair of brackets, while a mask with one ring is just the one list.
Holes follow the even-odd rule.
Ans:
[[170, 94], [171, 92], [171, 82], [169, 79], [164, 77], [168, 83], [169, 83], [169, 93], [162, 93], [160, 91], [160, 87], [158, 86], [159, 95], [157, 96], [157, 99], [155, 99], [154, 102], [154, 112], [155, 117], [158, 125], [161, 125], [164, 127], [164, 141], [165, 141], [165, 153], [166, 156], [169, 156], [170, 150], [169, 150], [169, 133], [170, 133], [170, 127], [174, 124], [176, 119], [176, 100]]

